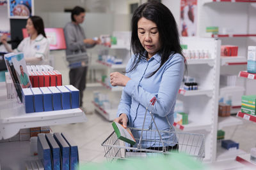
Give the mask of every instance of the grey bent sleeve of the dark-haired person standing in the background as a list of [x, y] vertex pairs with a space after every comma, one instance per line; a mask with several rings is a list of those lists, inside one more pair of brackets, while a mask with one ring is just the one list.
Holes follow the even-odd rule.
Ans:
[[83, 48], [84, 42], [76, 40], [76, 36], [75, 36], [76, 32], [73, 27], [70, 27], [67, 25], [64, 29], [64, 34], [65, 34], [67, 47], [70, 50], [76, 51], [76, 50]]

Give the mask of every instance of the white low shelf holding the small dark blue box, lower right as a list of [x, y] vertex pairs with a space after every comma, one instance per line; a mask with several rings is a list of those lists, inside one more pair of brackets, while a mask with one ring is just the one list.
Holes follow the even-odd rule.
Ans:
[[224, 160], [236, 160], [237, 155], [243, 155], [246, 152], [243, 150], [227, 150], [221, 147], [221, 142], [217, 143], [217, 157], [216, 161], [224, 161]]

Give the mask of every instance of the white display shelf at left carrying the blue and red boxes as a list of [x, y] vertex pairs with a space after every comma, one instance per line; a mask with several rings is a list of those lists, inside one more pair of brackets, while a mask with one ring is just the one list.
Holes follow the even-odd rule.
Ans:
[[[15, 136], [20, 129], [60, 124], [86, 122], [79, 108], [59, 111], [25, 113], [24, 105], [17, 99], [7, 99], [5, 82], [0, 83], [0, 139]], [[29, 152], [29, 141], [0, 143], [1, 167], [24, 169], [25, 160], [35, 159]]]

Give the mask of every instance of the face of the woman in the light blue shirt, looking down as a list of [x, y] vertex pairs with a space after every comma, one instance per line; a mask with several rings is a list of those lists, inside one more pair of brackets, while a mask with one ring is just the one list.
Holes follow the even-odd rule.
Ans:
[[155, 55], [161, 48], [156, 23], [142, 17], [138, 21], [138, 37], [141, 45], [148, 52], [148, 57]]

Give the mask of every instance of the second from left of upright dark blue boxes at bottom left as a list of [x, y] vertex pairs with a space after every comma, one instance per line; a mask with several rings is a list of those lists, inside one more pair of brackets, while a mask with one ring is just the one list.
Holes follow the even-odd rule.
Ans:
[[61, 165], [60, 165], [60, 146], [58, 143], [55, 141], [53, 138], [52, 134], [45, 134], [46, 140], [48, 141], [48, 144], [51, 148], [51, 153], [52, 153], [52, 167], [54, 170], [60, 170]]

